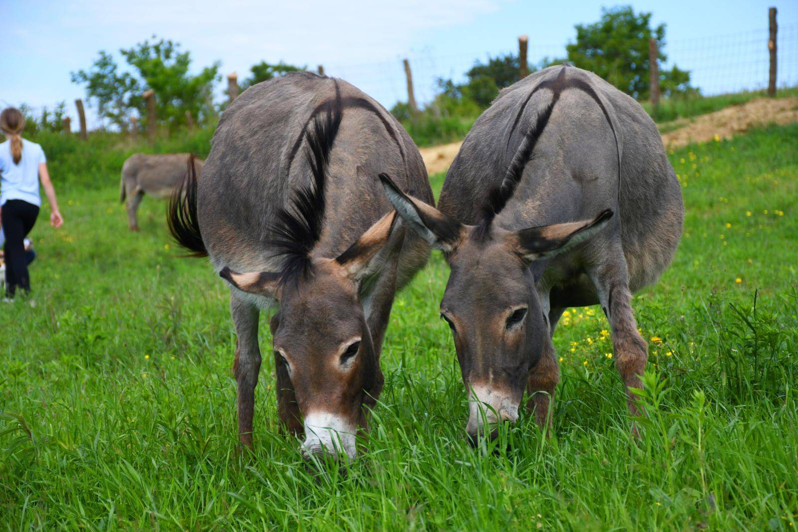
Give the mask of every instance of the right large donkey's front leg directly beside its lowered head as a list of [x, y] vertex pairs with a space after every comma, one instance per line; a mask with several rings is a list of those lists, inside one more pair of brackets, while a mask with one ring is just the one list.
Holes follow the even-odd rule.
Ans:
[[535, 367], [529, 372], [527, 381], [527, 394], [529, 401], [527, 407], [535, 412], [535, 421], [540, 428], [551, 428], [551, 415], [554, 413], [554, 393], [557, 383], [559, 383], [559, 363], [557, 363], [554, 345], [551, 343], [551, 335], [554, 334], [554, 327], [562, 316], [562, 308], [549, 308], [549, 295], [539, 293], [539, 300], [543, 306], [543, 316], [547, 317], [549, 335], [543, 338], [543, 352]]

